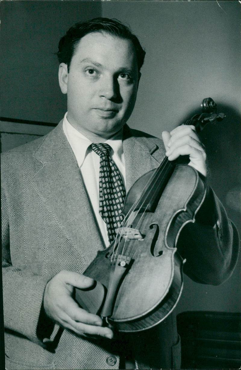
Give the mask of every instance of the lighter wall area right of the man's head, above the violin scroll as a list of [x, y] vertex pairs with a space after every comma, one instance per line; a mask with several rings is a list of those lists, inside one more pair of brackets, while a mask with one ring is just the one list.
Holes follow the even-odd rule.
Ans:
[[160, 136], [209, 96], [241, 113], [240, 10], [238, 1], [102, 2], [102, 16], [129, 24], [146, 51], [131, 126]]

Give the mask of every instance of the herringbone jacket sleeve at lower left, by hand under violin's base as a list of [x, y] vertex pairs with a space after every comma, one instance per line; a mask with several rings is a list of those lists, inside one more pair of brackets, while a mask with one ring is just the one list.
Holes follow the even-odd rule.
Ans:
[[48, 280], [44, 276], [34, 274], [27, 266], [22, 270], [14, 268], [11, 261], [7, 199], [3, 190], [1, 213], [4, 327], [46, 347], [59, 329], [59, 326], [44, 314], [42, 307]]

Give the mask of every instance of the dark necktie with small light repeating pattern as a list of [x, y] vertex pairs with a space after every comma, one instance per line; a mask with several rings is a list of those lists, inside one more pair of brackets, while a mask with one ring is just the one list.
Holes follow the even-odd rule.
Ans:
[[113, 242], [116, 236], [115, 229], [123, 220], [122, 211], [126, 196], [125, 187], [115, 162], [109, 153], [109, 144], [91, 144], [91, 148], [100, 156], [99, 172], [99, 213], [106, 223], [109, 243]]

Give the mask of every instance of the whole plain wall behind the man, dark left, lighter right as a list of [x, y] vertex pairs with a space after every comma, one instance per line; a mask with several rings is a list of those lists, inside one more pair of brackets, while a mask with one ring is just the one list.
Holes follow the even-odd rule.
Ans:
[[[59, 38], [100, 15], [128, 23], [146, 50], [129, 125], [161, 137], [212, 97], [227, 118], [201, 133], [209, 182], [240, 231], [240, 9], [238, 1], [2, 1], [1, 116], [57, 123], [66, 111]], [[184, 284], [177, 312], [240, 311], [240, 262], [221, 286], [186, 276]]]

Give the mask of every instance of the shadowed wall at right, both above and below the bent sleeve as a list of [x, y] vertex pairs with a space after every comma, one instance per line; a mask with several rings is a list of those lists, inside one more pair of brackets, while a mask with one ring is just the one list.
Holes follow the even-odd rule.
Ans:
[[[221, 122], [207, 124], [199, 137], [207, 152], [208, 183], [214, 189], [241, 235], [240, 226], [240, 122], [241, 117], [231, 105], [218, 104], [218, 112], [226, 117]], [[183, 122], [200, 109], [186, 115]], [[201, 247], [201, 246], [200, 246]], [[232, 276], [219, 286], [203, 285], [184, 278], [184, 291], [176, 313], [187, 310], [240, 312], [240, 256]]]

